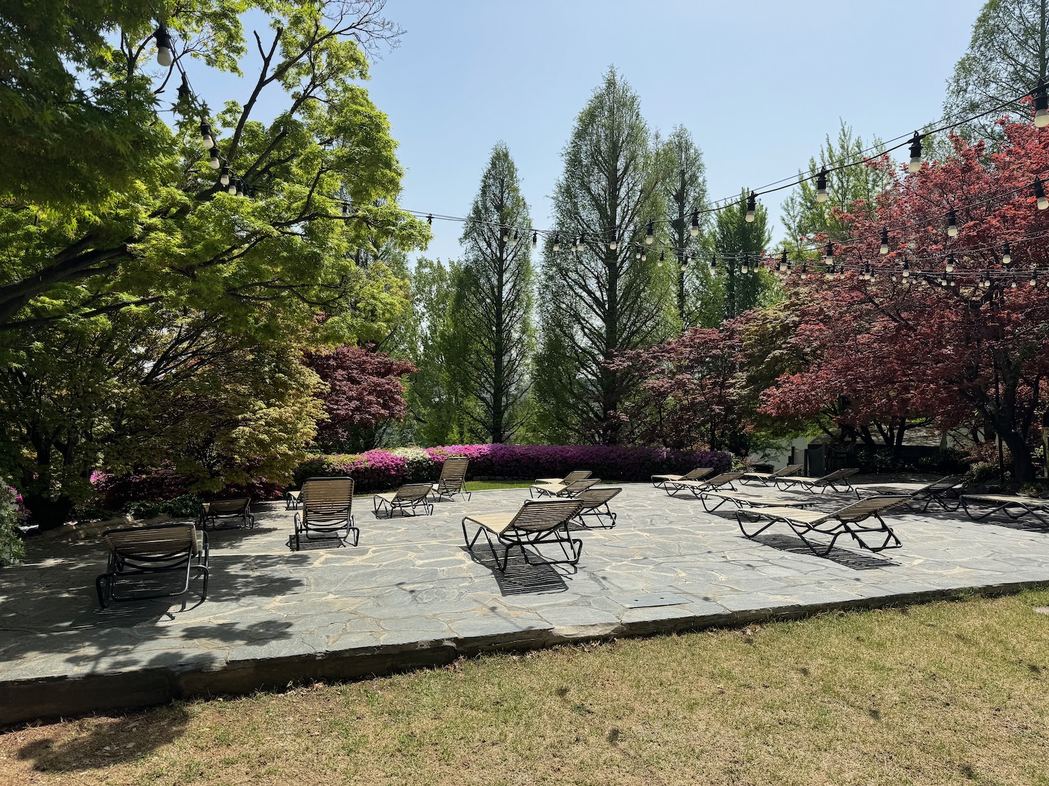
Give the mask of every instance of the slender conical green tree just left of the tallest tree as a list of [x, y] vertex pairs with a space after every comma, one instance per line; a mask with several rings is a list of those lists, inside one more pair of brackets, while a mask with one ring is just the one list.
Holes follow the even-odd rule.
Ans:
[[467, 348], [463, 378], [475, 402], [467, 412], [491, 442], [508, 441], [523, 422], [534, 345], [531, 223], [517, 168], [499, 143], [463, 230], [456, 310]]

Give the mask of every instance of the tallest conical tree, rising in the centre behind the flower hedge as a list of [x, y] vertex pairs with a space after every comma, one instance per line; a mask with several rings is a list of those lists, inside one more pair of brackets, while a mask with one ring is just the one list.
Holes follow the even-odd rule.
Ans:
[[[626, 379], [606, 364], [672, 331], [673, 296], [644, 243], [660, 214], [651, 133], [614, 69], [579, 113], [563, 158], [557, 237], [547, 241], [542, 268], [539, 417], [551, 439], [616, 443]], [[580, 236], [583, 249], [574, 252]]]

